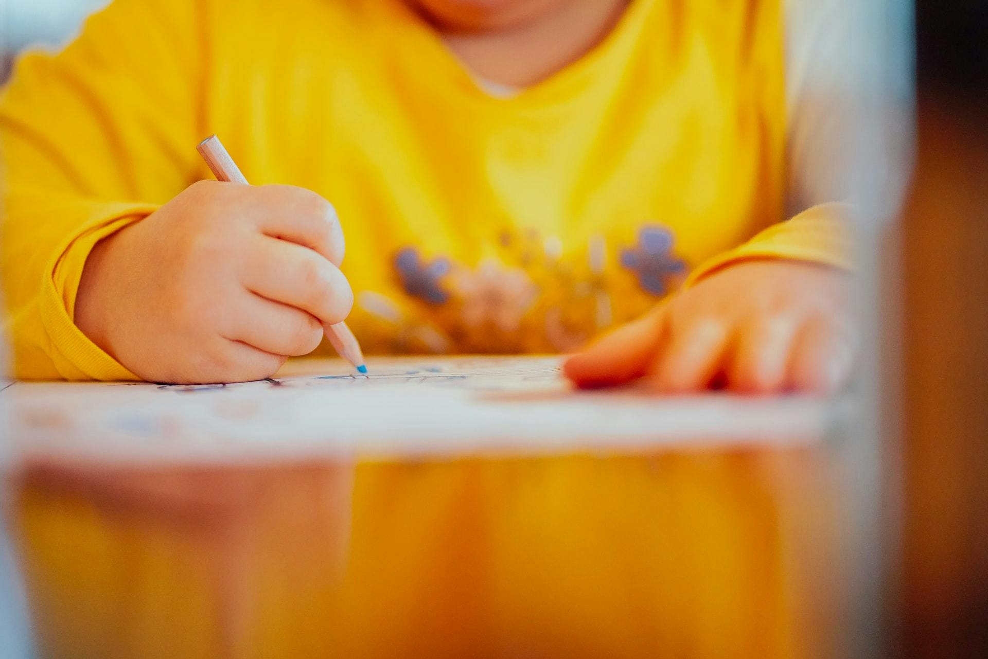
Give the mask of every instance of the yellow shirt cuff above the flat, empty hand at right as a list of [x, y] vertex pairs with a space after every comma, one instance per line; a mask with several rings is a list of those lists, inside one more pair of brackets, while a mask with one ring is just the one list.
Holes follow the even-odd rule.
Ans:
[[852, 270], [852, 210], [849, 204], [822, 204], [765, 229], [740, 247], [700, 264], [684, 288], [714, 272], [752, 259], [789, 259]]

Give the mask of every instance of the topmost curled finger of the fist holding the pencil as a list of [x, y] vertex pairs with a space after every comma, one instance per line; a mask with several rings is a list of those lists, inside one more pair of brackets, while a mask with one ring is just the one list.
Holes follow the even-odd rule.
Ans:
[[294, 186], [261, 186], [255, 189], [265, 207], [276, 208], [261, 219], [261, 230], [308, 247], [339, 267], [345, 243], [336, 208], [311, 190]]

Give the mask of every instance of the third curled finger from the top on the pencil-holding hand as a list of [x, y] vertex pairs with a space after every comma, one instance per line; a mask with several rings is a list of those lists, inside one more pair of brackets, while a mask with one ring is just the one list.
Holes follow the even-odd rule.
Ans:
[[235, 327], [223, 336], [273, 355], [308, 355], [322, 341], [322, 323], [310, 313], [245, 291]]

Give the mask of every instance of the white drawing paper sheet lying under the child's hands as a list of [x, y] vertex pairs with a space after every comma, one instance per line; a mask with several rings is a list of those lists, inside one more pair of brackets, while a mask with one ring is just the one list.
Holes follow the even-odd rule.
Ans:
[[289, 364], [216, 385], [16, 382], [0, 394], [19, 457], [240, 461], [351, 456], [641, 452], [813, 442], [833, 406], [803, 398], [578, 392], [558, 358]]

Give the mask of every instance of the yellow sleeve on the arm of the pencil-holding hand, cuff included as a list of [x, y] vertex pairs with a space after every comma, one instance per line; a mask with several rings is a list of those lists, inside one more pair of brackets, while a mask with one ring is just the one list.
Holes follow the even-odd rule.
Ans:
[[14, 374], [133, 378], [72, 322], [86, 257], [193, 170], [194, 3], [119, 0], [62, 53], [23, 57], [0, 99], [3, 282]]

